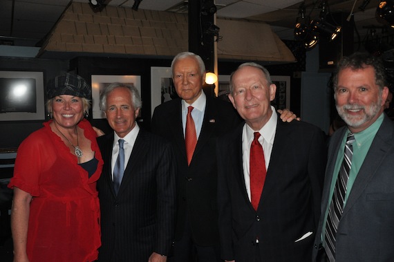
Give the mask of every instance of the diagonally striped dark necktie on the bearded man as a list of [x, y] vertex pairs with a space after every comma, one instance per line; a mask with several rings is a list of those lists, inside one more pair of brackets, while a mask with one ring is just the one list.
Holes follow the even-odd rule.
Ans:
[[353, 158], [353, 142], [355, 142], [355, 136], [353, 133], [348, 133], [345, 144], [344, 160], [339, 174], [337, 182], [335, 183], [334, 194], [332, 194], [332, 200], [330, 203], [330, 209], [328, 209], [325, 241], [326, 241], [326, 253], [330, 262], [335, 261], [335, 242], [337, 239], [337, 230], [339, 221], [344, 212], [344, 200], [346, 196], [346, 185], [350, 174], [350, 167], [352, 165]]

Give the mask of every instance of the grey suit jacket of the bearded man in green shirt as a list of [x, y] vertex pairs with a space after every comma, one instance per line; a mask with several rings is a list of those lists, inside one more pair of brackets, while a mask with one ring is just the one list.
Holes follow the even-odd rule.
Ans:
[[[329, 187], [346, 127], [332, 135], [328, 149], [321, 214], [328, 205]], [[343, 150], [343, 149], [342, 149]], [[315, 240], [316, 261], [323, 216]], [[336, 261], [394, 261], [394, 124], [384, 115], [350, 191], [337, 231]]]

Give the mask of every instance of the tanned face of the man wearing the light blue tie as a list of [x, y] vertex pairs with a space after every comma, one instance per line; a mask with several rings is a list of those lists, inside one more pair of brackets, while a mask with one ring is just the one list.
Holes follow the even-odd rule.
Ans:
[[120, 138], [124, 138], [135, 127], [139, 112], [139, 108], [134, 108], [131, 92], [127, 88], [115, 88], [106, 97], [106, 119]]

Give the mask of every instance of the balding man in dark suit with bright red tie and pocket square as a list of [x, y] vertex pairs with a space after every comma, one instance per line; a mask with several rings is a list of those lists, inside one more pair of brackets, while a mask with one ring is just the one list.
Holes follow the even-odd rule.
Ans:
[[276, 86], [259, 64], [241, 64], [229, 99], [245, 120], [218, 139], [218, 210], [225, 261], [310, 261], [326, 165], [323, 131], [282, 122]]

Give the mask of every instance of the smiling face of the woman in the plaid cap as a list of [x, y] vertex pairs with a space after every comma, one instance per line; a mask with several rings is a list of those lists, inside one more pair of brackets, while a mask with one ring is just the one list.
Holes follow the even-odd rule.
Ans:
[[73, 95], [57, 95], [52, 101], [53, 121], [63, 128], [74, 128], [84, 117], [82, 99]]

